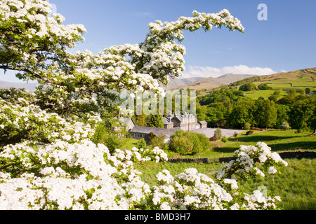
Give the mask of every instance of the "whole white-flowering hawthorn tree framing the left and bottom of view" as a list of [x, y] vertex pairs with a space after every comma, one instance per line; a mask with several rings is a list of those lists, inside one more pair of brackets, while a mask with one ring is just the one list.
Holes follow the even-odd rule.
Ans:
[[241, 148], [239, 160], [220, 170], [218, 183], [185, 169], [175, 176], [164, 170], [157, 174], [159, 186], [149, 186], [133, 162], [168, 160], [164, 151], [110, 153], [92, 141], [102, 119], [124, 113], [114, 90], [160, 94], [169, 76], [182, 74], [183, 30], [244, 31], [228, 10], [150, 23], [142, 43], [96, 55], [67, 52], [84, 41], [86, 29], [63, 25], [65, 18], [51, 15], [47, 0], [0, 0], [0, 20], [0, 69], [40, 84], [34, 93], [0, 91], [0, 209], [277, 209], [279, 197], [243, 194], [228, 179], [237, 170], [258, 172], [256, 161], [270, 173], [286, 165], [266, 145]]

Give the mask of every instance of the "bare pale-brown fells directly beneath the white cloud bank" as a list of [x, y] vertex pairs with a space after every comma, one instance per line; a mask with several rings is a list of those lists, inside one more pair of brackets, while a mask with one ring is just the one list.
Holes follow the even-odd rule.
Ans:
[[[192, 82], [190, 82], [189, 78], [186, 78], [185, 81], [190, 82], [190, 83], [184, 83], [184, 84], [179, 81], [179, 80], [183, 80], [182, 78], [181, 79], [177, 78], [176, 80], [171, 80], [170, 82], [171, 85], [168, 86], [168, 90], [180, 90], [180, 89], [186, 90], [187, 88], [190, 88], [191, 90], [204, 90], [204, 89], [211, 90], [221, 85], [228, 85], [238, 80], [243, 80], [244, 78], [250, 78], [250, 77], [254, 77], [254, 75], [228, 73], [218, 78], [213, 78], [213, 77], [198, 78], [198, 80], [194, 80], [194, 78], [192, 78], [191, 79], [193, 80]], [[178, 85], [173, 84], [174, 82], [177, 83]]]

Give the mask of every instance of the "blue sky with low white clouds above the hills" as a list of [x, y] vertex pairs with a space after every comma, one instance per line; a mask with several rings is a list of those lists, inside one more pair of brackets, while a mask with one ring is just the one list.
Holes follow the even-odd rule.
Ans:
[[[316, 66], [316, 1], [284, 0], [51, 0], [65, 24], [80, 23], [86, 41], [75, 50], [97, 53], [111, 45], [140, 43], [147, 25], [191, 16], [193, 10], [218, 13], [227, 8], [241, 20], [244, 34], [228, 29], [185, 31], [185, 77], [220, 76], [225, 73], [264, 75]], [[268, 20], [257, 18], [258, 5], [268, 7]], [[0, 80], [14, 81], [13, 75]]]

